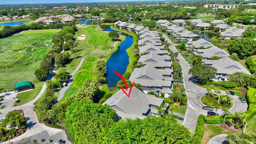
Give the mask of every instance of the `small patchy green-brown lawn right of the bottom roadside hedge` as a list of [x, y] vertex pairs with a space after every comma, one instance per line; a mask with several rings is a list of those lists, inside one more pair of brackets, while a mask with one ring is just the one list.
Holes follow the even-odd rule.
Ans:
[[204, 136], [202, 139], [201, 144], [206, 144], [212, 137], [217, 136], [219, 134], [232, 134], [233, 132], [230, 132], [229, 130], [226, 130], [224, 128], [221, 128], [217, 125], [207, 125], [204, 128]]

